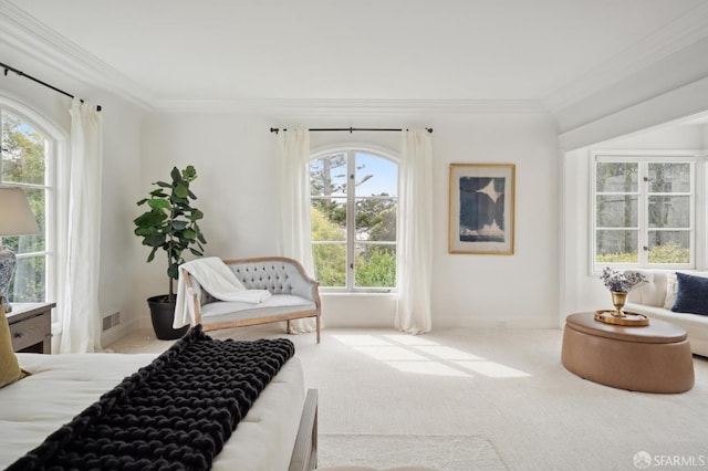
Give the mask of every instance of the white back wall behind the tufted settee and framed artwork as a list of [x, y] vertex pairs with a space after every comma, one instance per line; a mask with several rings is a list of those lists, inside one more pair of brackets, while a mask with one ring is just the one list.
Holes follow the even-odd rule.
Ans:
[[[558, 318], [558, 160], [548, 115], [450, 114], [348, 119], [303, 114], [153, 114], [143, 129], [140, 189], [192, 164], [194, 190], [206, 217], [207, 254], [259, 257], [275, 251], [275, 135], [271, 126], [433, 127], [436, 228], [434, 326], [554, 326]], [[312, 134], [312, 148], [373, 143], [397, 151], [396, 133]], [[447, 251], [450, 163], [517, 165], [516, 253]], [[135, 198], [137, 200], [138, 197]], [[144, 255], [147, 255], [147, 249]], [[153, 264], [155, 265], [155, 264]], [[139, 270], [139, 297], [164, 292], [162, 266]], [[511, 294], [510, 294], [511, 293]], [[147, 310], [140, 314], [147, 320]], [[393, 325], [386, 295], [323, 295], [325, 325]]]

